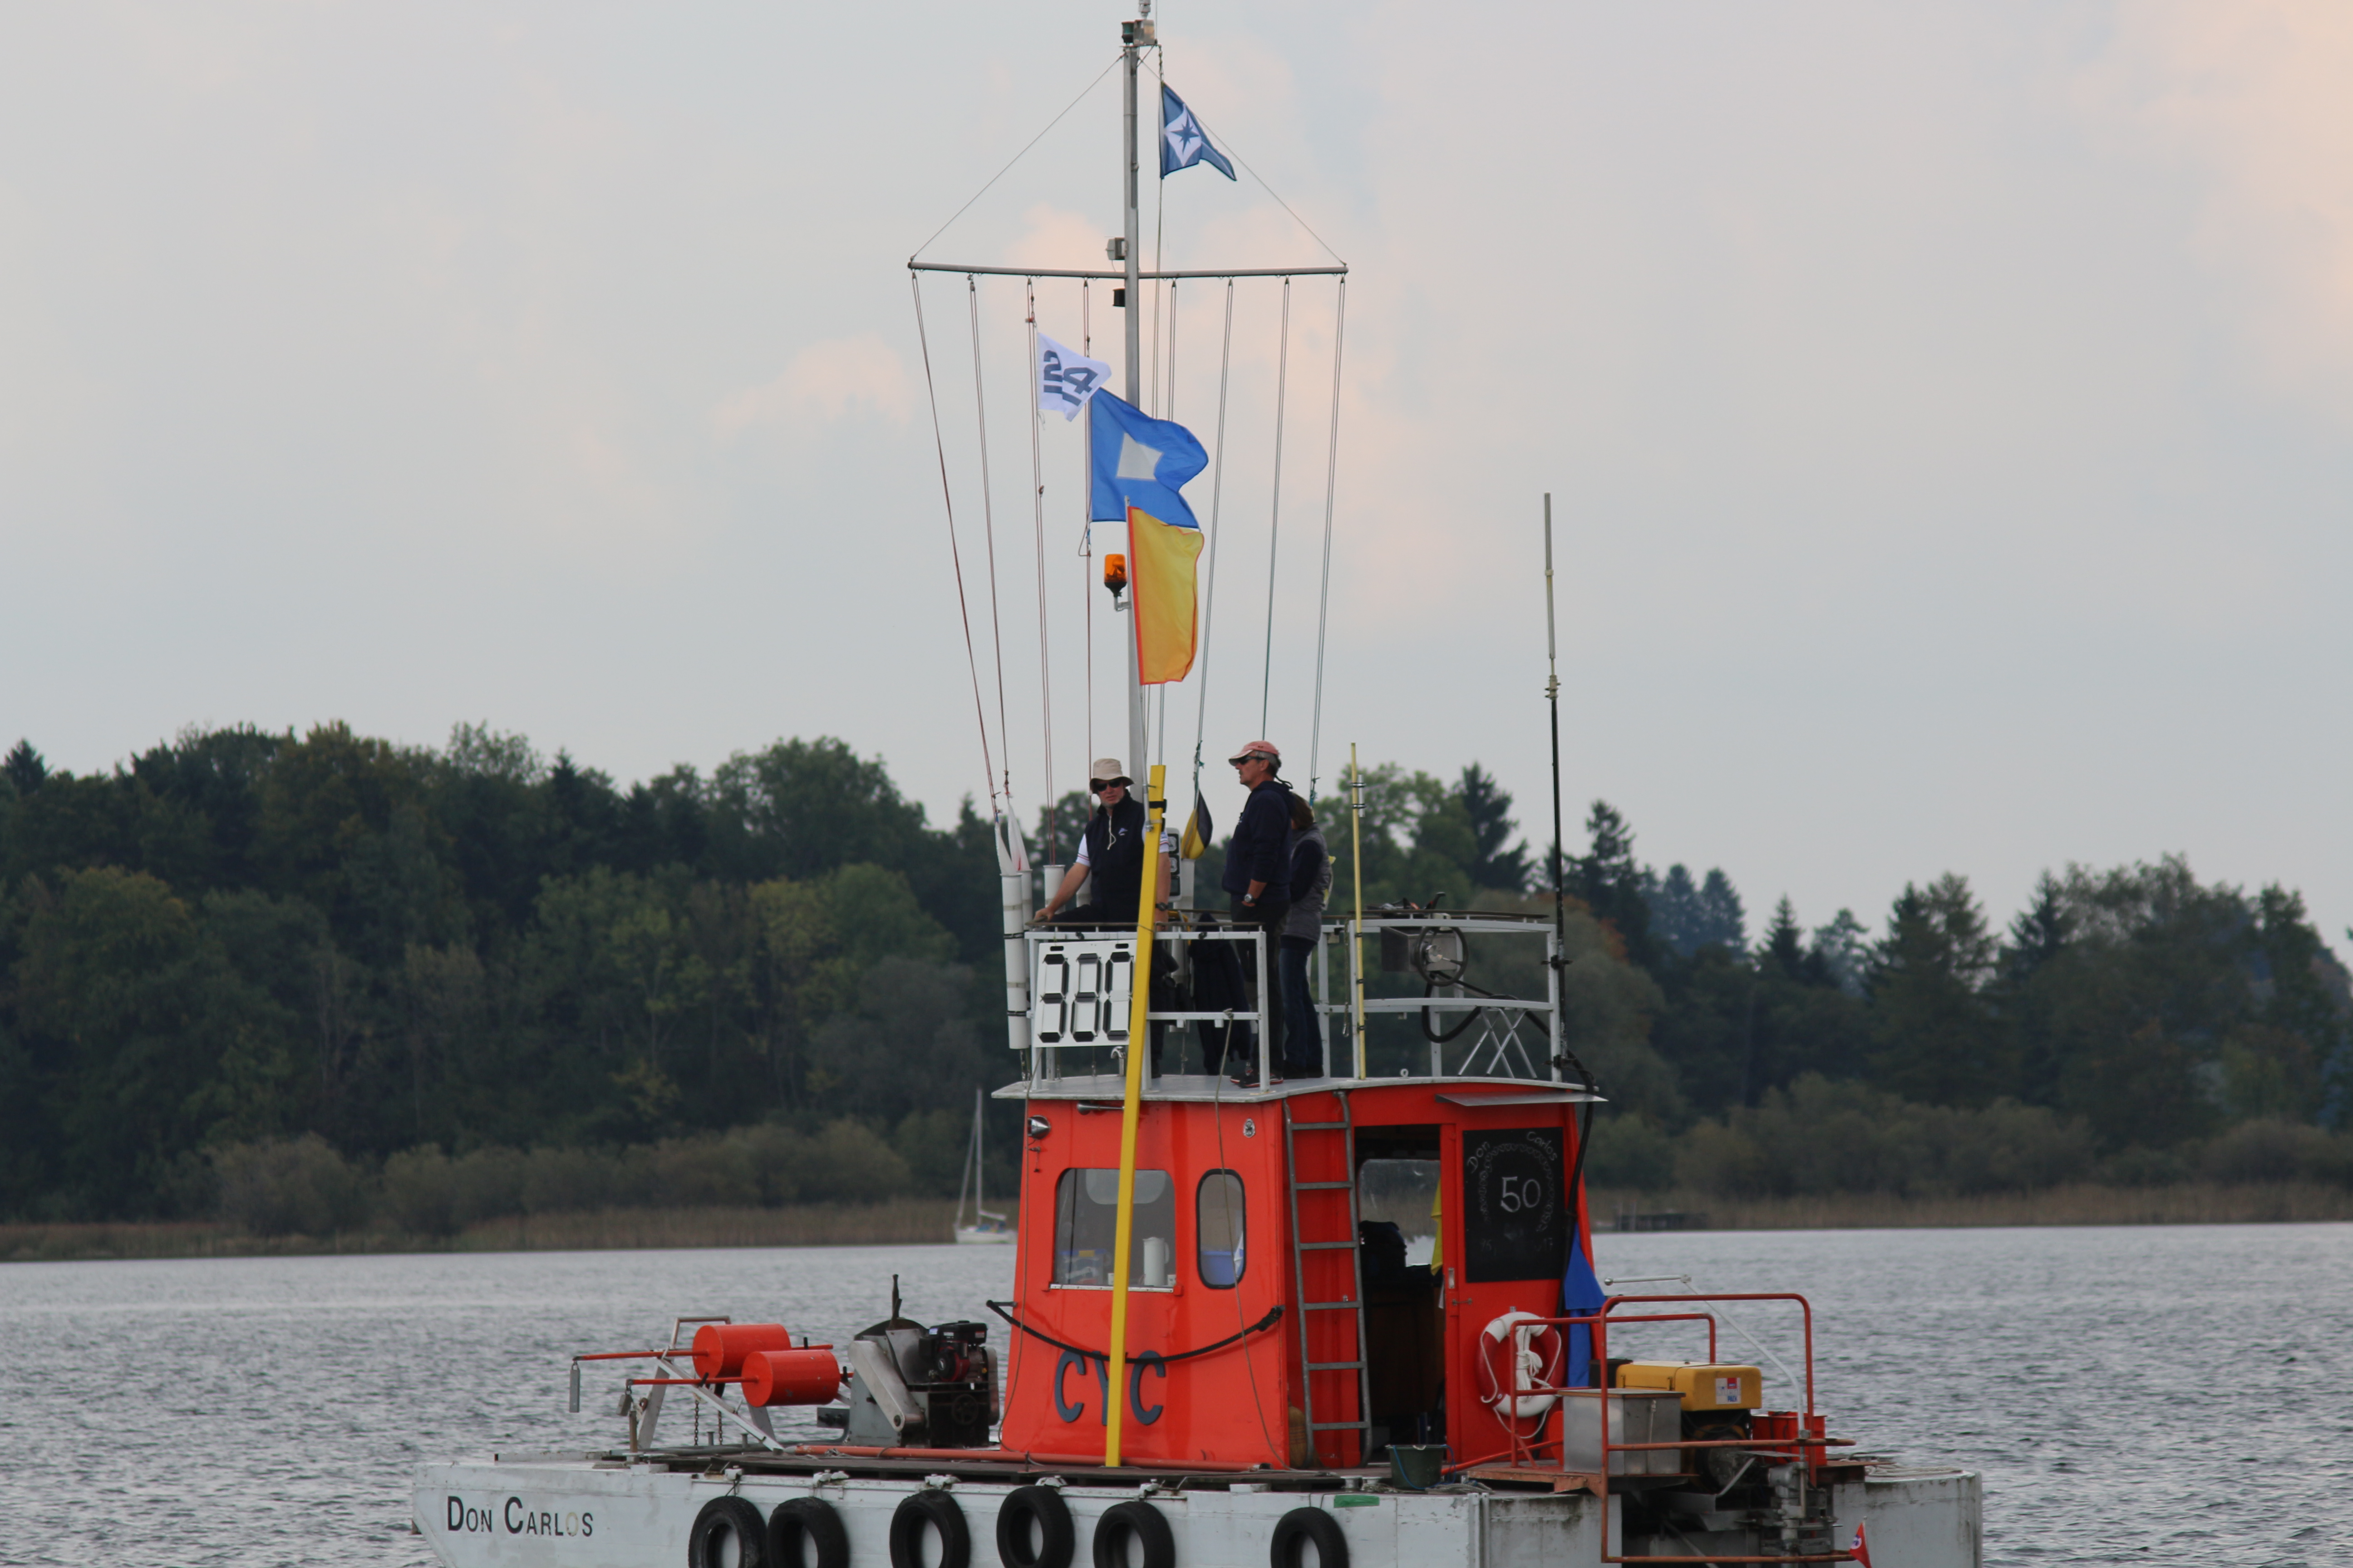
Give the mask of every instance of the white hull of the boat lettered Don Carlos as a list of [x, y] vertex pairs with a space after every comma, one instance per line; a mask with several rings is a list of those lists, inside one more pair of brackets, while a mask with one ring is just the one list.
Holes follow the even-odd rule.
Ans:
[[[715, 1465], [706, 1474], [586, 1458], [426, 1465], [416, 1474], [416, 1528], [449, 1568], [654, 1568], [687, 1559], [687, 1535], [713, 1497], [734, 1493], [762, 1519], [779, 1502], [821, 1497], [842, 1519], [849, 1563], [880, 1568], [889, 1561], [892, 1514], [925, 1490], [915, 1476], [779, 1476]], [[1064, 1488], [1078, 1535], [1073, 1563], [1094, 1561], [1094, 1521], [1136, 1497], [1141, 1481]], [[972, 1566], [998, 1568], [995, 1516], [1012, 1479], [932, 1483], [962, 1509]], [[1614, 1554], [1628, 1544], [1661, 1556], [1687, 1552], [1673, 1540], [1626, 1542], [1619, 1500], [1586, 1493], [1228, 1490], [1224, 1476], [1193, 1476], [1184, 1490], [1153, 1490], [1148, 1500], [1169, 1523], [1179, 1568], [1264, 1568], [1275, 1521], [1297, 1507], [1332, 1514], [1348, 1542], [1348, 1568], [1598, 1568], [1605, 1507]], [[1882, 1563], [1979, 1568], [1979, 1481], [1969, 1472], [1882, 1467], [1868, 1481], [1835, 1486], [1833, 1509], [1840, 1547], [1864, 1523]]]

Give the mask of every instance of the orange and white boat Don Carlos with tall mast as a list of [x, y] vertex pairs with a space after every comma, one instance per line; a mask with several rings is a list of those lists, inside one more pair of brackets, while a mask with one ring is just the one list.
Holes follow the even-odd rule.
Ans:
[[[1139, 266], [1153, 45], [1148, 12], [1122, 24], [1125, 268], [1064, 273], [1118, 280], [1132, 306], [1165, 277]], [[1151, 844], [1167, 766], [1136, 778]], [[1346, 809], [1365, 809], [1353, 759]], [[1593, 1276], [1584, 1154], [1605, 1093], [1562, 1009], [1558, 806], [1548, 912], [1327, 912], [1320, 1072], [1287, 1079], [1252, 999], [1275, 961], [1264, 931], [1191, 907], [1188, 889], [1158, 907], [1165, 860], [1132, 922], [1031, 924], [1035, 867], [998, 823], [1019, 1077], [995, 1098], [1019, 1105], [1021, 1185], [993, 1321], [908, 1316], [894, 1279], [882, 1316], [840, 1345], [682, 1314], [635, 1345], [581, 1347], [572, 1415], [586, 1378], [624, 1375], [598, 1439], [551, 1413], [534, 1450], [419, 1467], [414, 1521], [442, 1563], [1979, 1566], [1979, 1476], [1866, 1455], [1831, 1425], [1802, 1293]], [[1473, 954], [1501, 952], [1529, 961], [1485, 980], [1541, 978], [1473, 985]], [[1193, 985], [1233, 969], [1257, 992]], [[1381, 1018], [1419, 1020], [1428, 1056], [1377, 1065]], [[1205, 1051], [1186, 1072], [1186, 1032], [1247, 1070]], [[979, 1135], [976, 1110], [976, 1204]], [[1737, 1356], [1734, 1338], [1765, 1342], [1751, 1326], [1791, 1363]]]

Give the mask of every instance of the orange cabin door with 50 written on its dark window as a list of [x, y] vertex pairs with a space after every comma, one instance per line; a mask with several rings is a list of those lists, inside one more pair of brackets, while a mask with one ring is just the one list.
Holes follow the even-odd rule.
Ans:
[[[1548, 1110], [1548, 1107], [1546, 1107]], [[1569, 1157], [1558, 1112], [1497, 1107], [1442, 1128], [1449, 1462], [1499, 1462], [1513, 1432], [1546, 1436], [1548, 1399], [1511, 1396], [1511, 1314], [1560, 1314], [1569, 1260]], [[1527, 1340], [1534, 1378], [1562, 1382], [1562, 1333]]]

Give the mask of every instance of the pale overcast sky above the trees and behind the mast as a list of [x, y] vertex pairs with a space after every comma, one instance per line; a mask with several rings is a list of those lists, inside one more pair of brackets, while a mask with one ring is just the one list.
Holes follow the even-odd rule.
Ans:
[[[87, 771], [186, 724], [473, 719], [626, 783], [831, 733], [934, 816], [986, 792], [904, 261], [1122, 14], [7, 7], [0, 743]], [[2353, 12], [1160, 19], [1169, 82], [1353, 268], [1327, 792], [1351, 741], [1480, 759], [1541, 835], [1553, 491], [1572, 818], [1600, 795], [1647, 860], [1722, 865], [1751, 929], [1784, 891], [1878, 926], [1944, 870], [2007, 919], [2042, 867], [2179, 851], [2344, 945]], [[927, 256], [1099, 263], [1115, 136], [1106, 78]], [[1165, 200], [1172, 266], [1320, 256], [1247, 176]], [[1021, 284], [976, 303], [986, 512], [965, 282], [925, 289], [1028, 813]], [[1205, 440], [1221, 310], [1186, 284], [1162, 322]], [[1271, 675], [1280, 284], [1235, 292], [1214, 541], [1207, 745], [1257, 736], [1264, 684], [1294, 776], [1332, 313], [1294, 287]], [[1038, 322], [1075, 339], [1075, 284]], [[1092, 327], [1118, 360], [1101, 294]], [[1120, 726], [1073, 442], [1040, 430], [1056, 788], [1089, 597], [1096, 750]]]

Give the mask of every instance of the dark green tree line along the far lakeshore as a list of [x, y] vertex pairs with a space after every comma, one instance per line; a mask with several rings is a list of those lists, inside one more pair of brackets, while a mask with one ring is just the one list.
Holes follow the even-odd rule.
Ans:
[[[1485, 769], [1369, 785], [1369, 907], [1551, 912], [1548, 846]], [[1085, 806], [1042, 811], [1033, 851], [1068, 858]], [[1584, 839], [1562, 1006], [1612, 1095], [1598, 1175], [1666, 1185], [1680, 1161], [1769, 1187], [1833, 1124], [1946, 1150], [1878, 1185], [2202, 1171], [2252, 1147], [2240, 1128], [2327, 1138], [2346, 1117], [2346, 969], [2287, 889], [2071, 865], [1995, 926], [1948, 872], [1875, 929], [1809, 929], [1784, 898], [1751, 936], [1722, 870], [1645, 865], [1600, 802]], [[1217, 851], [1200, 875], [1214, 889]], [[953, 1192], [974, 1086], [1016, 1070], [988, 823], [967, 799], [934, 825], [828, 738], [626, 788], [468, 724], [442, 748], [186, 731], [89, 776], [19, 743], [0, 889], [14, 1218], [268, 1208], [254, 1171], [407, 1215], [856, 1197], [828, 1175], [849, 1168], [873, 1197]], [[1471, 978], [1541, 987], [1499, 950]], [[1016, 1110], [991, 1114], [1009, 1152]]]

